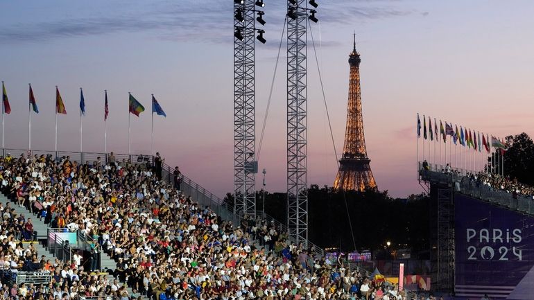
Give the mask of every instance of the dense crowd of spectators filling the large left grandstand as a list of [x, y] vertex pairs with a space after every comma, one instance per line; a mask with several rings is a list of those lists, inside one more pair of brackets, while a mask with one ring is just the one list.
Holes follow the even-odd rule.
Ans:
[[[4, 296], [51, 300], [94, 295], [121, 300], [141, 296], [155, 300], [404, 297], [396, 287], [375, 284], [342, 262], [327, 261], [313, 249], [288, 242], [274, 222], [222, 220], [209, 206], [199, 206], [180, 193], [178, 168], [173, 183], [162, 180], [159, 154], [155, 168], [117, 161], [112, 153], [105, 161], [78, 164], [69, 157], [36, 155], [0, 158], [3, 192], [14, 199], [14, 205], [26, 206], [51, 227], [83, 231], [117, 262], [115, 270], [92, 270], [96, 266], [79, 256], [73, 261], [38, 260], [33, 244], [24, 249], [20, 243], [35, 238], [33, 229], [24, 225], [30, 218], [0, 206], [4, 218], [0, 240], [5, 237], [0, 265], [3, 261], [20, 268], [31, 262], [34, 270], [53, 272], [49, 285], [13, 285], [5, 287]], [[98, 271], [111, 272], [124, 285], [110, 282]]]

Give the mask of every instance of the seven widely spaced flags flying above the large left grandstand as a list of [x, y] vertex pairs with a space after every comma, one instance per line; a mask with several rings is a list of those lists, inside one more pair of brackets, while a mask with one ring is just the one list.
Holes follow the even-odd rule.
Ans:
[[[30, 85], [30, 91], [29, 91], [29, 106], [30, 109], [33, 110], [36, 114], [39, 114], [39, 108], [37, 107], [37, 102], [35, 101], [35, 96], [33, 95], [33, 89]], [[107, 120], [107, 116], [110, 113], [109, 107], [107, 106], [107, 91], [105, 91], [104, 96], [104, 121]], [[128, 109], [131, 114], [135, 114], [136, 116], [139, 116], [141, 112], [144, 112], [145, 107], [135, 99], [132, 94], [129, 94], [128, 97]], [[60, 91], [58, 87], [55, 87], [55, 112], [56, 114], [67, 114], [67, 109], [65, 109], [65, 105], [63, 103], [63, 99], [61, 98]], [[6, 86], [3, 84], [2, 81], [2, 114], [10, 114], [11, 113], [11, 106], [9, 105], [9, 99], [8, 99], [8, 93], [6, 91]], [[152, 113], [156, 113], [159, 116], [167, 116], [165, 112], [163, 111], [162, 107], [160, 106], [160, 103], [157, 103], [156, 98], [154, 95], [152, 95]], [[85, 116], [85, 98], [83, 97], [83, 90], [80, 88], [80, 114]]]

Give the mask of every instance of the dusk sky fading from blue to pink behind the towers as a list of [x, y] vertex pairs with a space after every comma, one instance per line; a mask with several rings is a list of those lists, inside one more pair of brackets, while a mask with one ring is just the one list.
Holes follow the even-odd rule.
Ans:
[[[365, 140], [380, 190], [420, 193], [416, 114], [495, 136], [534, 135], [534, 1], [317, 0], [311, 25], [338, 155], [343, 149], [352, 33], [361, 54]], [[265, 0], [266, 44], [256, 44], [257, 141], [282, 34], [285, 0]], [[28, 83], [40, 114], [32, 148], [54, 148], [55, 85], [60, 150], [79, 149], [79, 92], [86, 102], [84, 150], [128, 152], [128, 91], [146, 111], [132, 115], [132, 152], [155, 149], [209, 191], [233, 190], [233, 2], [0, 0], [0, 80], [12, 113], [6, 148], [28, 145]], [[267, 190], [286, 190], [285, 37], [259, 169]], [[309, 184], [337, 171], [311, 37], [308, 47]], [[257, 177], [261, 188], [261, 173]]]

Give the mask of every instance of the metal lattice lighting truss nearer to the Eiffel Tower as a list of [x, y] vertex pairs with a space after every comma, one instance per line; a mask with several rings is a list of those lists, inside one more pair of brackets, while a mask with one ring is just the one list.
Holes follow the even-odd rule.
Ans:
[[287, 225], [297, 244], [308, 240], [307, 1], [288, 0]]

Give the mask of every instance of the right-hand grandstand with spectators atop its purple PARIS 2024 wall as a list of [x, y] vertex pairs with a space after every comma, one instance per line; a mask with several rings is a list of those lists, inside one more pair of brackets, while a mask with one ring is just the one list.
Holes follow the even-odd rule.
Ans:
[[534, 188], [426, 163], [419, 178], [431, 195], [433, 288], [455, 299], [532, 299]]

